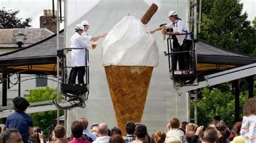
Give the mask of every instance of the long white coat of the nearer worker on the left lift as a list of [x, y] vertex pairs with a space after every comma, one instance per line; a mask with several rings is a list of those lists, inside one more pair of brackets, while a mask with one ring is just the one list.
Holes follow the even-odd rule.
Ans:
[[[92, 48], [77, 32], [70, 38], [71, 48]], [[85, 66], [85, 49], [72, 49], [72, 67]]]

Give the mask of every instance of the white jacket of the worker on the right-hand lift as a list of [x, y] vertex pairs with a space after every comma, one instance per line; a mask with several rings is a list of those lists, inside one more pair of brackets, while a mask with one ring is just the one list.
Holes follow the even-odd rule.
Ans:
[[[166, 28], [173, 28], [173, 32], [179, 32], [180, 34], [184, 34], [186, 31], [190, 33], [180, 19], [177, 19], [174, 23], [167, 24]], [[187, 38], [185, 38], [186, 35], [176, 35], [176, 37], [180, 46], [183, 44], [184, 39], [191, 40], [190, 34], [187, 34]]]

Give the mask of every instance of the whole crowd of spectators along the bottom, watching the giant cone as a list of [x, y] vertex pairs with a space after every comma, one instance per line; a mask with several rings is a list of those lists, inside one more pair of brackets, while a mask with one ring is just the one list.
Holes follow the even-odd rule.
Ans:
[[7, 118], [6, 129], [0, 134], [0, 143], [256, 142], [256, 98], [247, 100], [244, 104], [242, 122], [235, 123], [232, 128], [228, 127], [219, 116], [215, 116], [207, 126], [197, 126], [186, 121], [180, 124], [178, 118], [171, 118], [170, 123], [166, 125], [166, 131], [156, 131], [153, 134], [147, 132], [146, 125], [128, 121], [125, 124], [125, 133], [122, 133], [118, 127], [110, 130], [106, 123], [92, 124], [88, 130], [88, 120], [80, 118], [72, 122], [70, 135], [66, 134], [63, 125], [57, 125], [47, 139], [39, 127], [33, 127], [31, 117], [24, 112], [29, 106], [28, 101], [16, 97], [13, 103], [15, 112]]

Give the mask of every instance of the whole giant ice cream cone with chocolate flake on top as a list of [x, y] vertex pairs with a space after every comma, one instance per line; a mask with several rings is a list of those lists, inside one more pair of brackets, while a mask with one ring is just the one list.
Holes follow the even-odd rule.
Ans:
[[[143, 18], [149, 22], [151, 17], [152, 11]], [[156, 37], [148, 33], [146, 23], [124, 17], [103, 42], [103, 66], [123, 135], [127, 121], [141, 122], [152, 70], [158, 65]]]

